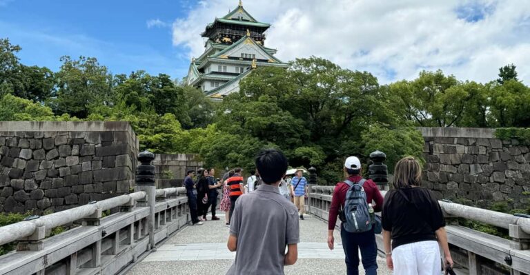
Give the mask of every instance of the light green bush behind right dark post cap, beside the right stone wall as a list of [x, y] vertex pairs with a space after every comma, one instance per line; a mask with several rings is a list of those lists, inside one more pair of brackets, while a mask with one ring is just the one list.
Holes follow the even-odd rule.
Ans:
[[362, 134], [364, 156], [380, 150], [386, 154], [386, 165], [389, 173], [393, 173], [395, 163], [404, 156], [414, 156], [420, 163], [424, 163], [424, 140], [420, 131], [414, 128], [389, 129], [374, 125]]

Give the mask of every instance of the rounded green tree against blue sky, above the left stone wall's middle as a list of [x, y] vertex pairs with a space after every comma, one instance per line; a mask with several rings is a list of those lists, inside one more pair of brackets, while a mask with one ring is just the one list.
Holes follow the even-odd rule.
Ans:
[[94, 57], [61, 57], [57, 79], [57, 98], [50, 102], [56, 114], [68, 113], [85, 119], [92, 108], [109, 105], [112, 76]]

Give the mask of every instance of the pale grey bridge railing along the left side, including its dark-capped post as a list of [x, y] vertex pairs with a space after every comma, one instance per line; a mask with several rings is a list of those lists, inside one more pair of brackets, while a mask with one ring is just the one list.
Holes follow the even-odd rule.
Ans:
[[[138, 170], [152, 166], [151, 160], [144, 156]], [[139, 172], [132, 194], [0, 227], [0, 245], [18, 242], [16, 252], [0, 256], [0, 274], [126, 272], [189, 221], [186, 189], [155, 190], [153, 175]], [[116, 213], [104, 216], [106, 210]], [[46, 237], [53, 228], [72, 223], [82, 225]]]

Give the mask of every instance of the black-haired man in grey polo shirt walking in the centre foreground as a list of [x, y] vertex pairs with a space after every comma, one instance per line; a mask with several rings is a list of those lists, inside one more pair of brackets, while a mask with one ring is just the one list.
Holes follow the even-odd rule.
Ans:
[[236, 252], [230, 275], [284, 274], [284, 265], [294, 265], [298, 258], [298, 210], [278, 190], [287, 159], [282, 152], [267, 149], [255, 164], [264, 184], [235, 203], [228, 237], [228, 249]]

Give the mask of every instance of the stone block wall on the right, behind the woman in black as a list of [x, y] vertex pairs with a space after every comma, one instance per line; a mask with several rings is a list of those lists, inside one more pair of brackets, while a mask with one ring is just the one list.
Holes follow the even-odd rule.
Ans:
[[495, 139], [494, 129], [419, 128], [424, 136], [424, 185], [438, 198], [464, 198], [480, 207], [530, 192], [529, 147]]

